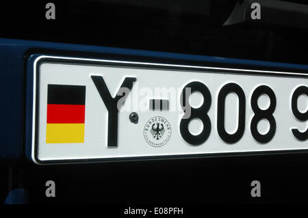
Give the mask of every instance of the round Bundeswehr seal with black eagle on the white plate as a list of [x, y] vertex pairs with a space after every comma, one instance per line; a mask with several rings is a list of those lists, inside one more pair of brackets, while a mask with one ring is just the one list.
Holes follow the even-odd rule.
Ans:
[[144, 125], [143, 135], [150, 146], [161, 147], [170, 139], [171, 126], [166, 118], [155, 116]]

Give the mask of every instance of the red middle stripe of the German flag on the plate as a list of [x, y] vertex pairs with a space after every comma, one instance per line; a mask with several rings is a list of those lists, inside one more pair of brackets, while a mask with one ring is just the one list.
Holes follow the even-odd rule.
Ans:
[[85, 105], [47, 104], [48, 124], [82, 124], [84, 123]]

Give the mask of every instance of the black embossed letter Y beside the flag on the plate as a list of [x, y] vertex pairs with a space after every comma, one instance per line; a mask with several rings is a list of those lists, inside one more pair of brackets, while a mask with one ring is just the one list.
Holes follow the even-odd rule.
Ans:
[[136, 81], [135, 77], [125, 77], [118, 93], [114, 98], [112, 98], [107, 85], [101, 76], [91, 76], [92, 81], [94, 82], [95, 86], [97, 87], [97, 91], [99, 91], [99, 95], [105, 106], [108, 110], [108, 147], [116, 147], [118, 145], [118, 100], [122, 98], [123, 104], [125, 103], [125, 99], [127, 95], [123, 91], [123, 88], [131, 90], [133, 87], [133, 82]]

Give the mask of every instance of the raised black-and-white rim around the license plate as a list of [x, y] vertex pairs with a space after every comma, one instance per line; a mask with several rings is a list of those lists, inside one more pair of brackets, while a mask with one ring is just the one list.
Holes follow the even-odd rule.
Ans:
[[[33, 69], [34, 72], [34, 83], [33, 83], [33, 123], [32, 123], [32, 152], [31, 159], [37, 164], [58, 164], [58, 163], [97, 163], [97, 162], [112, 162], [112, 161], [146, 161], [153, 159], [184, 159], [184, 158], [200, 158], [200, 157], [213, 157], [213, 156], [242, 156], [242, 155], [255, 155], [255, 154], [283, 154], [283, 153], [293, 153], [293, 152], [307, 152], [308, 149], [303, 150], [279, 150], [279, 151], [262, 151], [262, 152], [228, 152], [228, 153], [217, 153], [217, 154], [181, 154], [181, 155], [166, 155], [166, 156], [141, 156], [141, 157], [123, 157], [123, 158], [103, 158], [103, 159], [70, 159], [70, 160], [57, 160], [57, 161], [41, 161], [38, 159], [38, 145], [37, 145], [37, 131], [36, 126], [38, 124], [38, 81], [39, 81], [39, 70], [38, 66], [42, 62], [57, 62], [66, 64], [94, 64], [102, 65], [108, 64], [113, 66], [133, 66], [142, 68], [161, 68], [161, 69], [172, 69], [172, 70], [193, 70], [193, 71], [204, 71], [211, 70], [217, 73], [224, 73], [228, 71], [229, 73], [236, 74], [259, 74], [259, 75], [270, 75], [277, 77], [301, 77], [308, 78], [308, 74], [303, 72], [280, 72], [274, 70], [253, 70], [253, 69], [241, 69], [241, 68], [218, 68], [209, 66], [194, 66], [194, 65], [181, 65], [181, 64], [160, 64], [151, 62], [132, 62], [132, 61], [120, 61], [120, 60], [110, 60], [110, 59], [90, 59], [81, 57], [64, 57], [56, 55], [36, 55], [34, 56]], [[31, 72], [28, 72], [31, 73]]]

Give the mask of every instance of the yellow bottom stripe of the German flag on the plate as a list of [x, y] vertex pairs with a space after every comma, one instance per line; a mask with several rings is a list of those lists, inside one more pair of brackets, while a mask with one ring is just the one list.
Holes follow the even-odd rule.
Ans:
[[47, 124], [46, 143], [84, 143], [84, 124]]

